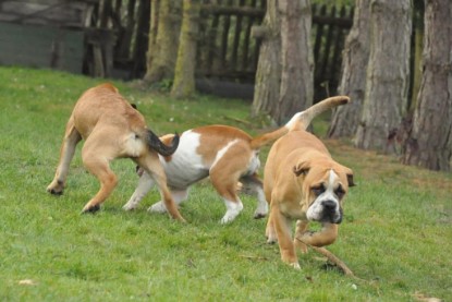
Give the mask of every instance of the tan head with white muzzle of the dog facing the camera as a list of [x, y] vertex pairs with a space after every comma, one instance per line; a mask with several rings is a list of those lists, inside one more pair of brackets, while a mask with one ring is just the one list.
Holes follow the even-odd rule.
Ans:
[[293, 168], [303, 190], [302, 206], [309, 221], [341, 224], [342, 203], [353, 171], [332, 159], [304, 160]]

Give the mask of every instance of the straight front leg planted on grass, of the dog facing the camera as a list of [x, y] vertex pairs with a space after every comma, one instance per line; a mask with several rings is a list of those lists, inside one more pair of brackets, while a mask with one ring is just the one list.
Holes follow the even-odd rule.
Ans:
[[292, 242], [291, 220], [281, 214], [278, 205], [273, 202], [271, 203], [271, 216], [278, 235], [281, 259], [294, 268], [300, 269], [295, 246]]

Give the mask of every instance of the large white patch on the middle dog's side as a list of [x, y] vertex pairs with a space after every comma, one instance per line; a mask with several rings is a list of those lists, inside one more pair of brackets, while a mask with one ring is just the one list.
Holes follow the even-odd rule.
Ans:
[[203, 165], [203, 158], [196, 153], [200, 135], [185, 131], [179, 141], [175, 153], [170, 161], [159, 156], [167, 173], [168, 184], [175, 189], [185, 189], [192, 183], [208, 176], [208, 167]]

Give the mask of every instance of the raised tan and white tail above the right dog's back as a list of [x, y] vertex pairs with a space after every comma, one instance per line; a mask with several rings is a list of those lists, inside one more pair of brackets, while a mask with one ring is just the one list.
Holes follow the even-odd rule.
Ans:
[[253, 138], [252, 148], [258, 149], [261, 146], [278, 140], [279, 137], [281, 137], [282, 135], [286, 134], [290, 131], [306, 130], [307, 126], [313, 121], [313, 119], [317, 117], [318, 114], [327, 111], [328, 109], [332, 109], [334, 107], [345, 105], [350, 101], [351, 100], [347, 96], [333, 96], [333, 97], [326, 98], [310, 106], [306, 110], [295, 113], [292, 117], [292, 119], [285, 125], [281, 126], [280, 129]]

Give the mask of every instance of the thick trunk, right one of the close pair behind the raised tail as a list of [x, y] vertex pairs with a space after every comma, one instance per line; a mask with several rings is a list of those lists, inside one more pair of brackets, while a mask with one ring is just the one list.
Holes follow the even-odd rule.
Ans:
[[313, 105], [314, 57], [309, 0], [279, 0], [281, 13], [281, 87], [270, 112], [279, 124]]

